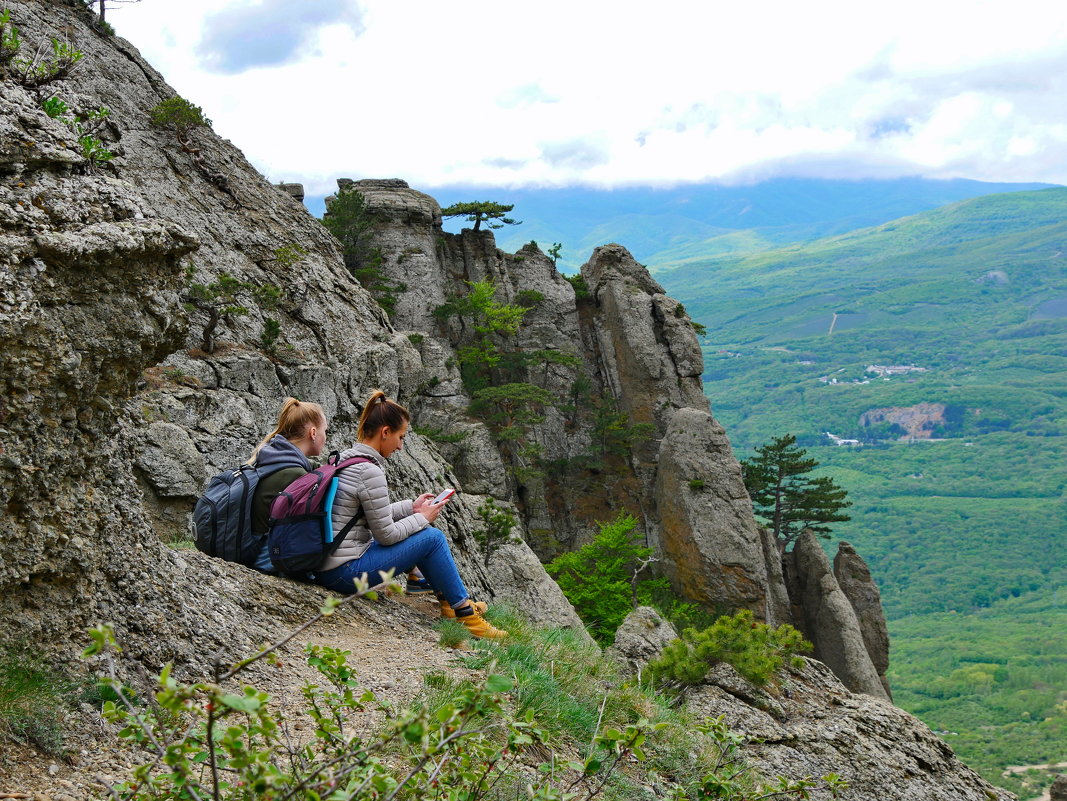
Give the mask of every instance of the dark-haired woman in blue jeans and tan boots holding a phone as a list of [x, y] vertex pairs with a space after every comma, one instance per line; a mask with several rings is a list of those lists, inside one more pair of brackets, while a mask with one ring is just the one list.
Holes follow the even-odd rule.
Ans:
[[437, 593], [443, 618], [456, 618], [475, 637], [500, 639], [507, 631], [494, 628], [482, 616], [487, 605], [471, 600], [444, 533], [432, 524], [445, 500], [433, 503], [433, 494], [391, 502], [385, 481], [385, 460], [403, 448], [411, 415], [399, 403], [377, 391], [360, 417], [359, 442], [341, 460], [364, 456], [369, 462], [346, 467], [339, 474], [332, 507], [334, 533], [356, 518], [333, 556], [315, 571], [315, 580], [336, 592], [352, 592], [353, 580], [367, 574], [411, 572], [417, 565]]

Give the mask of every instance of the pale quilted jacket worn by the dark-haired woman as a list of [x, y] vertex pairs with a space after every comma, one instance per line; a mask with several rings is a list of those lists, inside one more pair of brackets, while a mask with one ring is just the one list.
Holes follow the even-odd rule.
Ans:
[[334, 555], [319, 565], [319, 573], [362, 557], [370, 547], [371, 536], [379, 545], [396, 545], [430, 525], [426, 517], [414, 513], [411, 500], [389, 502], [389, 487], [382, 469], [385, 459], [381, 453], [356, 443], [340, 454], [341, 460], [352, 456], [367, 456], [371, 461], [340, 471], [332, 512], [334, 535], [340, 533], [352, 515], [356, 515], [357, 522]]

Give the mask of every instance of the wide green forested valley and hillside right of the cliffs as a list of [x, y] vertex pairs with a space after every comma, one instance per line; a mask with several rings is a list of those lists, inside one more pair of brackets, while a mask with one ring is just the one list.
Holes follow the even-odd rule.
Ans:
[[1022, 797], [1006, 766], [1067, 759], [1065, 221], [989, 195], [656, 273], [738, 453], [792, 432], [848, 490], [897, 703]]

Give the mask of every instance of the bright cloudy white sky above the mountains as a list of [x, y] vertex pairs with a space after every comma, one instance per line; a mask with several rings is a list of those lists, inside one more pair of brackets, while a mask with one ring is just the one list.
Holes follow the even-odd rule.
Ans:
[[1067, 183], [1053, 0], [144, 0], [109, 12], [273, 180]]

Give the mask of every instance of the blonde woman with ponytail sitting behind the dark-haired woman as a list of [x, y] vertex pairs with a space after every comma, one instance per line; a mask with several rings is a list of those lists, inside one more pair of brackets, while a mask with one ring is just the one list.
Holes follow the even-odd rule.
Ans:
[[265, 436], [248, 464], [260, 474], [252, 496], [252, 533], [264, 538], [255, 568], [273, 573], [267, 551], [270, 504], [277, 494], [312, 469], [308, 456], [317, 456], [327, 444], [327, 416], [318, 403], [286, 398], [274, 430]]

